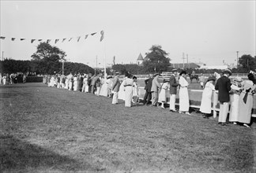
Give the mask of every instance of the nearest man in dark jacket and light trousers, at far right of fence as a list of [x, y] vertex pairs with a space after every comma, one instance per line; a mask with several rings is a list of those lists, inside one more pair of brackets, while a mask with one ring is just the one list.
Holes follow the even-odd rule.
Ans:
[[231, 81], [228, 77], [232, 75], [229, 69], [224, 70], [223, 76], [217, 80], [215, 90], [219, 90], [218, 101], [220, 101], [219, 124], [226, 125], [228, 116], [229, 91], [231, 90]]

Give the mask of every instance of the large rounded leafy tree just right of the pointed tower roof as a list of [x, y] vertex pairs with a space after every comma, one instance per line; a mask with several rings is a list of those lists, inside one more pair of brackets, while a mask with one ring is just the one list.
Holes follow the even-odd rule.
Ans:
[[162, 46], [153, 45], [150, 49], [151, 52], [145, 53], [146, 57], [143, 61], [145, 72], [164, 72], [167, 71], [170, 65], [170, 58], [168, 53], [162, 50]]

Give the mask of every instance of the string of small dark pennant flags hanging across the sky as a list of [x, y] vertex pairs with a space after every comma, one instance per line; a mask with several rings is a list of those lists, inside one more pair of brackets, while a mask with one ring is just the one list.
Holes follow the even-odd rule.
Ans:
[[[85, 39], [87, 39], [88, 38], [88, 36], [89, 35], [96, 35], [98, 32], [93, 32], [92, 34], [88, 34], [88, 35], [85, 35]], [[100, 42], [104, 39], [104, 31], [100, 31]], [[80, 41], [80, 39], [82, 38], [82, 36], [78, 36], [77, 37], [77, 42], [79, 42]], [[0, 39], [6, 39], [6, 37], [4, 37], [4, 36], [0, 36]], [[51, 40], [54, 40], [55, 41], [55, 44], [58, 42], [58, 41], [62, 41], [62, 42], [65, 42], [65, 41], [67, 41], [67, 42], [70, 42], [72, 39], [74, 39], [74, 37], [71, 37], [71, 38], [69, 38], [69, 39], [67, 39], [67, 38], [65, 38], [65, 39], [46, 39], [46, 42], [47, 43], [49, 43], [49, 42], [51, 42]], [[14, 38], [14, 37], [12, 37], [11, 38], [11, 41], [15, 41], [15, 40], [18, 40], [17, 38]], [[21, 41], [24, 41], [24, 40], [27, 40], [27, 39], [24, 39], [24, 38], [21, 38], [20, 39]], [[28, 40], [31, 40], [30, 42], [31, 43], [33, 43], [33, 42], [35, 42], [36, 40], [38, 41], [38, 42], [42, 42], [43, 41], [43, 39], [28, 39]]]

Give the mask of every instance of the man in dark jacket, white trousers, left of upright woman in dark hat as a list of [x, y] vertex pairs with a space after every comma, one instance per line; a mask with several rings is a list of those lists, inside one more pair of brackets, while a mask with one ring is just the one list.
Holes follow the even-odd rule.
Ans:
[[177, 112], [175, 109], [175, 101], [177, 94], [177, 86], [179, 86], [179, 83], [176, 82], [176, 75], [177, 69], [173, 69], [172, 74], [170, 76], [170, 112]]

